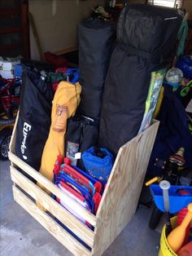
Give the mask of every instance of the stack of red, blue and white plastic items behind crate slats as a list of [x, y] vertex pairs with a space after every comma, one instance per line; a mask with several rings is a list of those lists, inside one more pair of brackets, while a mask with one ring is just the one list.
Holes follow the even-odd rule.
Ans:
[[[72, 197], [76, 201], [81, 202], [81, 205], [87, 210], [96, 214], [101, 201], [100, 192], [102, 190], [102, 184], [76, 166], [69, 166], [67, 162], [70, 163], [67, 157], [64, 158], [64, 164], [63, 157], [57, 157], [53, 170], [54, 183], [60, 189], [72, 194]], [[56, 198], [56, 200], [84, 222], [81, 216], [76, 213], [76, 210], [70, 208], [70, 202], [60, 201], [59, 198]]]

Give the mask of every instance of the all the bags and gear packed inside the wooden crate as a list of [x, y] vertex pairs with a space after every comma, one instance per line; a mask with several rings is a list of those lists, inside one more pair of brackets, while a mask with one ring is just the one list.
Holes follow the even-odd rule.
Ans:
[[[96, 214], [114, 163], [111, 152], [116, 156], [143, 123], [151, 124], [180, 24], [176, 10], [129, 5], [120, 15], [116, 46], [113, 25], [79, 24], [80, 83], [59, 82], [52, 110], [46, 79], [39, 83], [32, 71], [31, 77], [24, 73], [17, 156]], [[55, 199], [85, 223], [67, 198]]]

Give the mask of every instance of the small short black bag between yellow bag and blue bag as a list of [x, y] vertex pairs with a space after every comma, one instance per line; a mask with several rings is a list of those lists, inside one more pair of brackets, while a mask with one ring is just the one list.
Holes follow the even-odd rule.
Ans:
[[[78, 152], [85, 152], [98, 142], [98, 122], [81, 116], [69, 118], [65, 141], [65, 152], [67, 152], [68, 142], [79, 144]], [[85, 169], [81, 159], [77, 161], [77, 166], [82, 170]]]

